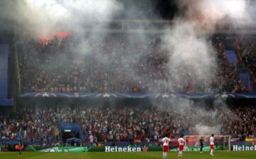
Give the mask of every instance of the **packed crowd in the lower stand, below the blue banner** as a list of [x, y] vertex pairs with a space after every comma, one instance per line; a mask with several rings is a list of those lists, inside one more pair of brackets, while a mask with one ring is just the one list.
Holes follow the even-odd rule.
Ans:
[[[62, 141], [61, 122], [78, 122], [83, 143], [159, 141], [168, 134], [215, 132], [237, 140], [256, 136], [256, 109], [251, 106], [204, 109], [199, 107], [24, 107], [0, 115], [0, 138], [53, 146]], [[206, 131], [206, 127], [210, 128]]]

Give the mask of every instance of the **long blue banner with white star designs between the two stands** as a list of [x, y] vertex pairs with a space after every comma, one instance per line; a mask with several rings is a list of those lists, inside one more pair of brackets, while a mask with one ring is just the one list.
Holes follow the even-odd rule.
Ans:
[[131, 99], [169, 99], [169, 98], [188, 98], [188, 99], [252, 99], [256, 98], [256, 93], [231, 93], [231, 94], [168, 94], [168, 93], [110, 93], [110, 92], [22, 92], [19, 97], [58, 97], [58, 98], [82, 98], [82, 99], [100, 99], [100, 98], [131, 98]]

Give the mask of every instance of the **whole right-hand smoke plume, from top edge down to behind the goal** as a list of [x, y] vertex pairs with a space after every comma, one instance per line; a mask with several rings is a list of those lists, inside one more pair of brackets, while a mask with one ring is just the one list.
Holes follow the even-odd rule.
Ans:
[[[177, 4], [183, 11], [176, 17], [174, 26], [166, 29], [162, 36], [162, 49], [169, 53], [169, 71], [173, 72], [171, 83], [186, 87], [186, 82], [198, 82], [203, 85], [203, 92], [212, 92], [213, 79], [218, 66], [216, 53], [210, 43], [211, 35], [218, 23], [244, 23], [248, 21], [245, 0], [178, 0]], [[188, 71], [188, 79], [183, 79], [184, 70]], [[190, 123], [183, 123], [195, 135], [220, 134], [224, 119], [232, 120], [233, 114], [225, 102], [217, 100], [212, 110], [196, 106], [187, 100], [175, 99], [170, 102], [171, 110], [183, 116]], [[206, 104], [202, 104], [205, 106]], [[196, 111], [195, 111], [196, 109]], [[184, 111], [185, 110], [185, 111]], [[181, 121], [182, 123], [182, 121]]]

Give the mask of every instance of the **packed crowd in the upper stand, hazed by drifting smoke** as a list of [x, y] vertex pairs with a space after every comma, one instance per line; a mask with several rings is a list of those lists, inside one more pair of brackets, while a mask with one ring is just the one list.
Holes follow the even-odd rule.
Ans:
[[[145, 38], [145, 37], [144, 37]], [[144, 39], [143, 38], [143, 39]], [[244, 92], [237, 65], [213, 40], [218, 70], [200, 80], [189, 67], [170, 69], [159, 38], [110, 35], [104, 39], [54, 38], [18, 43], [22, 91], [39, 92]], [[79, 43], [78, 43], [79, 42]], [[177, 75], [179, 74], [179, 75]]]

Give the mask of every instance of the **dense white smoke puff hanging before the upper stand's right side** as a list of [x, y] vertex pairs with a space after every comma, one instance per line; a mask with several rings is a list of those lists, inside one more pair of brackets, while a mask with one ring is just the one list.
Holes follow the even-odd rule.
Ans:
[[164, 49], [169, 51], [169, 69], [182, 81], [182, 71], [187, 68], [198, 79], [207, 79], [215, 69], [213, 48], [206, 37], [196, 33], [193, 23], [181, 23], [166, 30]]

